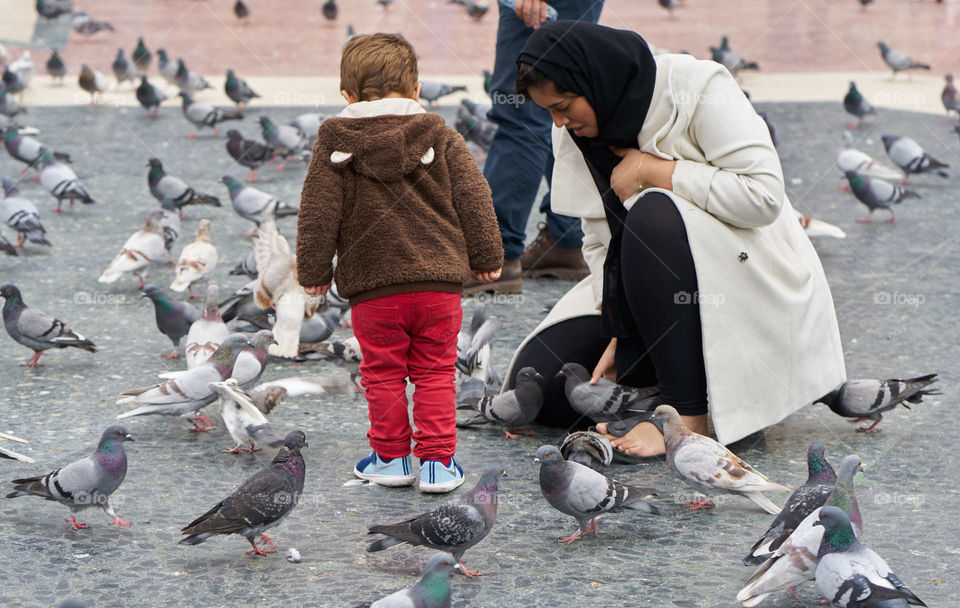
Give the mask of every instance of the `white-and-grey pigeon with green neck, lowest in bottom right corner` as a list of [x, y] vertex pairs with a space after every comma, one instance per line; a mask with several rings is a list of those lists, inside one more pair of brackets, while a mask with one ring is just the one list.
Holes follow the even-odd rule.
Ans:
[[817, 552], [817, 589], [831, 606], [926, 606], [883, 558], [860, 544], [841, 509], [824, 507], [813, 525], [823, 528]]

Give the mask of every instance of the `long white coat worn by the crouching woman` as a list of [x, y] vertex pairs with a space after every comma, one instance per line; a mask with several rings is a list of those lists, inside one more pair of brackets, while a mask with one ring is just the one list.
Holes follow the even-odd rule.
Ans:
[[[673, 192], [644, 193], [670, 196], [686, 227], [697, 271], [710, 418], [726, 444], [843, 383], [840, 332], [823, 267], [787, 200], [766, 125], [719, 64], [670, 54], [656, 62], [653, 99], [637, 140], [643, 152], [677, 162]], [[581, 218], [591, 274], [521, 349], [545, 327], [599, 314], [610, 240], [603, 203], [566, 129], [554, 127], [553, 151], [551, 208]], [[639, 196], [624, 205], [630, 208]]]

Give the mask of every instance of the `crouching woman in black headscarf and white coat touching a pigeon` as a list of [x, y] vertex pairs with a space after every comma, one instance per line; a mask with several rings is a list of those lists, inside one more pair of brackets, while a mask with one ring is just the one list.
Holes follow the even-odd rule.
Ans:
[[[554, 120], [552, 208], [581, 218], [591, 277], [511, 370], [585, 356], [585, 336], [559, 328], [592, 323], [606, 340], [592, 341], [594, 380], [656, 384], [691, 429], [705, 433], [709, 414], [723, 443], [845, 380], [823, 268], [769, 131], [724, 67], [654, 58], [633, 32], [556, 22], [524, 47], [517, 91]], [[622, 452], [663, 453], [651, 423], [619, 426]]]

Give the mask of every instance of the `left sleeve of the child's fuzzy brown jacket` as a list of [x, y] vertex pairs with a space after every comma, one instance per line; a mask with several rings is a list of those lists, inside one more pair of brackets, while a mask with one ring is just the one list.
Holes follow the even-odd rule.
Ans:
[[324, 285], [333, 279], [343, 196], [343, 177], [330, 162], [330, 152], [317, 143], [297, 214], [297, 282], [304, 287]]

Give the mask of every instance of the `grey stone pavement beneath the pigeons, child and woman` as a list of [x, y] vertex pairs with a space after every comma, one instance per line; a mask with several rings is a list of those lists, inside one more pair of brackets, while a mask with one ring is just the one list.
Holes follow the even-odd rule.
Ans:
[[[923, 198], [898, 207], [896, 224], [855, 223], [864, 209], [839, 192], [833, 167], [846, 118], [839, 104], [768, 105], [777, 125], [784, 172], [794, 204], [847, 231], [845, 240], [816, 242], [833, 289], [853, 377], [905, 377], [941, 374], [943, 395], [915, 409], [899, 409], [865, 436], [824, 407], [809, 407], [733, 449], [761, 472], [795, 487], [806, 478], [810, 441], [827, 445], [836, 466], [857, 453], [866, 472], [857, 486], [864, 516], [864, 540], [930, 606], [950, 606], [956, 597], [960, 532], [954, 515], [958, 339], [954, 320], [956, 232], [960, 142], [941, 116], [880, 111], [878, 124], [858, 137], [861, 148], [884, 158], [882, 133], [911, 134], [935, 157], [954, 165], [950, 179], [912, 180]], [[268, 108], [279, 119], [302, 110]], [[449, 109], [442, 110], [448, 119]], [[42, 130], [41, 139], [69, 152], [74, 168], [97, 199], [62, 216], [51, 213], [53, 199], [33, 182], [22, 193], [41, 210], [52, 249], [27, 246], [18, 258], [0, 257], [0, 282], [13, 282], [28, 305], [62, 318], [91, 338], [100, 351], [69, 349], [43, 357], [45, 366], [18, 364], [30, 352], [0, 336], [0, 430], [32, 441], [13, 446], [37, 460], [26, 465], [0, 461], [0, 476], [46, 473], [88, 453], [100, 432], [124, 411], [117, 393], [153, 381], [153, 374], [179, 369], [181, 362], [160, 357], [169, 342], [155, 328], [153, 309], [137, 299], [136, 281], [96, 282], [123, 241], [142, 226], [155, 206], [146, 187], [144, 164], [159, 157], [167, 170], [199, 190], [227, 201], [219, 183], [231, 166], [224, 139], [187, 140], [188, 125], [175, 107], [157, 121], [132, 108], [38, 108], [25, 122]], [[258, 136], [255, 118], [236, 125]], [[20, 165], [0, 155], [0, 174]], [[257, 187], [296, 201], [305, 168], [283, 172], [265, 168]], [[175, 253], [192, 240], [201, 218], [213, 221], [220, 250], [215, 277], [222, 291], [245, 280], [228, 276], [246, 254], [250, 225], [229, 206], [191, 208]], [[535, 236], [537, 214], [528, 236]], [[290, 239], [292, 218], [280, 221]], [[12, 237], [6, 228], [0, 229]], [[171, 267], [152, 269], [151, 281], [167, 288]], [[494, 355], [503, 371], [522, 337], [570, 286], [551, 280], [526, 283], [523, 294], [493, 299], [491, 312], [503, 321]], [[469, 312], [469, 304], [467, 305]], [[467, 315], [469, 316], [469, 315]], [[338, 335], [348, 335], [340, 329]], [[271, 361], [264, 380], [297, 374], [336, 377], [344, 372], [323, 362]], [[214, 414], [215, 408], [208, 408]], [[300, 397], [271, 414], [279, 430], [302, 429], [308, 472], [304, 496], [292, 515], [272, 530], [278, 553], [244, 555], [247, 543], [236, 536], [214, 538], [196, 547], [177, 546], [179, 529], [231, 492], [241, 480], [269, 462], [269, 451], [228, 455], [232, 442], [222, 424], [210, 433], [187, 432], [182, 420], [143, 417], [126, 421], [136, 438], [128, 444], [127, 479], [114, 495], [117, 513], [132, 522], [114, 530], [109, 519], [90, 510], [80, 516], [90, 529], [71, 531], [68, 511], [39, 499], [0, 500], [0, 605], [52, 606], [80, 597], [97, 608], [113, 606], [352, 606], [412, 584], [431, 554], [398, 547], [364, 552], [366, 527], [393, 522], [432, 508], [445, 498], [412, 488], [388, 489], [344, 484], [354, 462], [368, 452], [364, 402], [350, 396]], [[670, 606], [729, 608], [752, 569], [740, 558], [771, 517], [750, 501], [731, 497], [710, 512], [688, 512], [679, 503], [688, 490], [662, 460], [614, 466], [612, 476], [631, 484], [655, 486], [661, 494], [659, 517], [627, 512], [603, 518], [597, 538], [559, 546], [555, 539], [575, 522], [549, 508], [540, 496], [533, 453], [542, 443], [559, 443], [565, 429], [538, 429], [536, 437], [508, 440], [494, 429], [462, 431], [458, 460], [470, 487], [490, 465], [507, 469], [501, 486], [499, 518], [490, 535], [466, 554], [466, 564], [486, 576], [453, 580], [455, 606]], [[462, 491], [462, 490], [461, 490]], [[784, 497], [775, 497], [782, 501]], [[283, 555], [296, 547], [300, 564]], [[813, 585], [799, 589], [800, 600], [774, 594], [763, 605], [814, 606]]]

